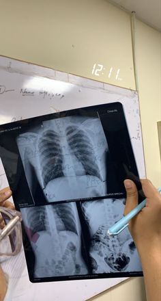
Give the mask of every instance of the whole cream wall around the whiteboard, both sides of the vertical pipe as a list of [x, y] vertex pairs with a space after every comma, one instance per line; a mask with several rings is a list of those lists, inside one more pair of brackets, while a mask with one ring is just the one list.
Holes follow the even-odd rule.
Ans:
[[[135, 89], [130, 15], [106, 0], [0, 0], [0, 54]], [[161, 185], [161, 34], [136, 21], [136, 59], [147, 176]], [[104, 75], [91, 75], [94, 63]], [[113, 67], [111, 77], [108, 77]], [[119, 77], [116, 74], [120, 69]], [[133, 278], [94, 300], [145, 300]]]

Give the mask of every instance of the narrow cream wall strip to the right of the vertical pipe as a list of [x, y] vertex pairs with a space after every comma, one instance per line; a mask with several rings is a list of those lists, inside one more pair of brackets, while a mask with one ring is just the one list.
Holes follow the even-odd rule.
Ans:
[[157, 121], [161, 120], [161, 34], [136, 22], [136, 61], [147, 177], [161, 184]]

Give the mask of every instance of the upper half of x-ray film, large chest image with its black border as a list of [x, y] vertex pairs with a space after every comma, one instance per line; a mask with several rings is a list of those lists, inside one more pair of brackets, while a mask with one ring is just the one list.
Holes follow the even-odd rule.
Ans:
[[[12, 122], [1, 127], [0, 136], [18, 205], [123, 198], [123, 180], [139, 182], [121, 103]], [[11, 176], [5, 150], [17, 158]]]

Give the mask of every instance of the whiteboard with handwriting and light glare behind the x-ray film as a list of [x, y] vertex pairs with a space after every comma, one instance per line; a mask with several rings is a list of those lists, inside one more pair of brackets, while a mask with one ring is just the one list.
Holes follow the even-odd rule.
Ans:
[[[144, 178], [141, 118], [136, 91], [0, 56], [0, 124], [116, 101], [123, 105], [138, 173]], [[5, 185], [8, 181], [0, 163], [0, 189]], [[18, 267], [16, 272], [15, 264]], [[83, 301], [126, 279], [33, 284], [29, 282], [23, 250], [18, 257], [10, 263], [2, 263], [2, 266], [10, 274], [10, 300], [41, 301], [46, 291], [48, 301], [53, 300], [53, 296], [60, 301]]]

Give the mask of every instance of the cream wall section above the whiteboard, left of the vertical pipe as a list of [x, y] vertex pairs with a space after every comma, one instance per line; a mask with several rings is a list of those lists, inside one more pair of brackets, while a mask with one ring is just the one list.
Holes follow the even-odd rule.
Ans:
[[108, 71], [121, 69], [120, 86], [135, 88], [130, 17], [105, 0], [0, 0], [1, 54], [65, 72], [101, 77], [118, 85]]

